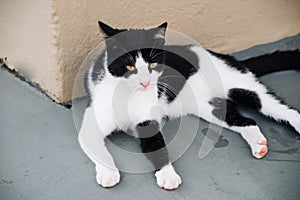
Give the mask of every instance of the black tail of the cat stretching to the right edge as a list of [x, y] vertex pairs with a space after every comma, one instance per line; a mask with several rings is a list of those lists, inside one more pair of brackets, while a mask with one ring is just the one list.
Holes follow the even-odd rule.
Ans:
[[300, 50], [276, 51], [240, 62], [257, 77], [282, 70], [300, 70]]

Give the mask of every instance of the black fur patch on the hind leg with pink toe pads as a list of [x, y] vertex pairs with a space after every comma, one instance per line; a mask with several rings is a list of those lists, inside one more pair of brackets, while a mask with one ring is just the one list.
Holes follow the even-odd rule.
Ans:
[[213, 98], [209, 103], [214, 106], [212, 114], [219, 120], [225, 121], [228, 126], [256, 125], [254, 120], [242, 116], [236, 109], [235, 103], [229, 99]]

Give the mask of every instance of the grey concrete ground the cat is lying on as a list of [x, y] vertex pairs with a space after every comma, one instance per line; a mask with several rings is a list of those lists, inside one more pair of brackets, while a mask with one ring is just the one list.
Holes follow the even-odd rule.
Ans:
[[[247, 52], [240, 54], [245, 56]], [[250, 54], [252, 54], [250, 52]], [[261, 78], [300, 110], [300, 73], [289, 71]], [[190, 148], [174, 166], [183, 184], [160, 189], [153, 173], [121, 173], [121, 182], [104, 189], [95, 181], [93, 164], [81, 151], [72, 111], [0, 70], [0, 200], [90, 199], [278, 199], [300, 197], [300, 140], [289, 126], [250, 113], [269, 140], [269, 153], [253, 158], [236, 133], [223, 130], [213, 151], [198, 158], [208, 124], [200, 120]], [[84, 100], [82, 100], [84, 104]], [[194, 117], [188, 120], [197, 121]], [[172, 132], [174, 122], [166, 132]], [[188, 127], [186, 128], [189, 134]], [[136, 141], [116, 135], [112, 141], [137, 148]]]

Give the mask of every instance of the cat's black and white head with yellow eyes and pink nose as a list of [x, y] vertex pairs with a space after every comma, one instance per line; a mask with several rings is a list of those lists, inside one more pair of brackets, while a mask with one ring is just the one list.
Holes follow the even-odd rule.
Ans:
[[155, 86], [163, 70], [167, 22], [151, 29], [115, 29], [98, 22], [105, 34], [109, 72], [130, 87]]

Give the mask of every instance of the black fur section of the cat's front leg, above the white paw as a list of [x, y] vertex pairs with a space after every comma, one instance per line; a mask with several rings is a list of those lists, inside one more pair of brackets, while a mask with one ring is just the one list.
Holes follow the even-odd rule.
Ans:
[[140, 136], [142, 152], [153, 163], [156, 170], [169, 163], [169, 155], [157, 121], [145, 121], [136, 126]]

